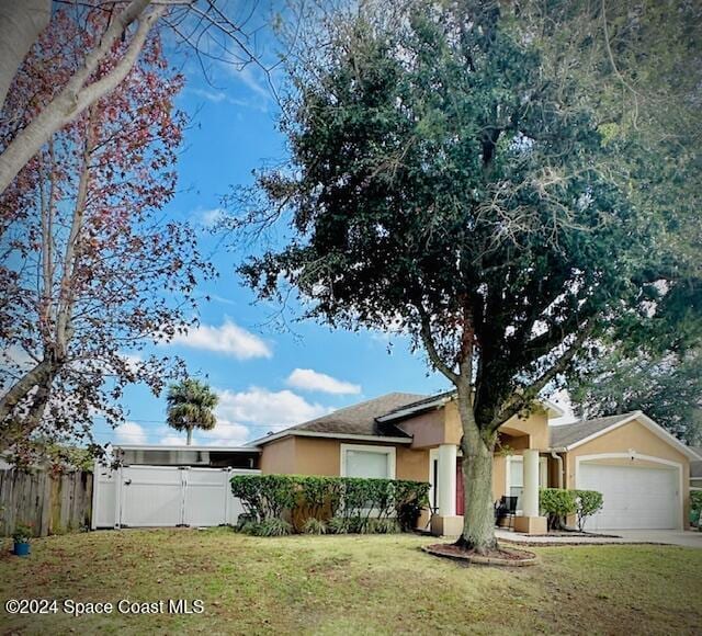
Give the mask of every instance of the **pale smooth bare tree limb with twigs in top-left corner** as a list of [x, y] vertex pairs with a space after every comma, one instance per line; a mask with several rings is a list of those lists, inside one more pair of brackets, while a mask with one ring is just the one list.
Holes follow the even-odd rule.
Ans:
[[[53, 4], [58, 5], [57, 10], [53, 10]], [[253, 11], [244, 10], [241, 2], [237, 3], [236, 11], [227, 4], [222, 0], [2, 0], [0, 107], [4, 106], [11, 82], [22, 72], [27, 52], [36, 46], [41, 36], [46, 36], [44, 30], [56, 35], [61, 14], [70, 12], [79, 24], [101, 23], [102, 31], [91, 42], [83, 41], [82, 48], [70, 50], [71, 71], [57, 78], [54, 90], [43, 95], [41, 109], [33, 117], [23, 120], [14, 135], [3, 138], [0, 194], [55, 133], [120, 87], [157, 24], [170, 29], [178, 42], [194, 52], [205, 73], [206, 58], [239, 69], [249, 64], [263, 68], [250, 46], [251, 34], [244, 30]], [[63, 42], [70, 43], [70, 39]]]

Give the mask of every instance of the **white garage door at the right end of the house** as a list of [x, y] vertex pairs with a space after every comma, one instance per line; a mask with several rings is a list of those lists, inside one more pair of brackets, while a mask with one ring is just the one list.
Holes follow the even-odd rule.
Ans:
[[663, 530], [679, 525], [677, 468], [607, 466], [595, 462], [578, 467], [578, 488], [599, 490], [602, 511], [586, 530]]

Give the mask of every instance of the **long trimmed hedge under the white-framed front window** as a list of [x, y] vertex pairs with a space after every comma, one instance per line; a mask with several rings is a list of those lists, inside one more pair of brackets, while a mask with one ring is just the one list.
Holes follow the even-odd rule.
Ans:
[[329, 521], [329, 532], [412, 530], [429, 503], [429, 484], [403, 479], [235, 475], [231, 492], [245, 509], [242, 530], [256, 533], [271, 520], [292, 520], [303, 532], [320, 532], [307, 520]]

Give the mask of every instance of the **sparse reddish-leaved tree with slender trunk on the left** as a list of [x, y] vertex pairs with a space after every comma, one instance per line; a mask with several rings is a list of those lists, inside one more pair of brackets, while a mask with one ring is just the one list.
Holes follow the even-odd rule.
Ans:
[[[0, 139], [41, 112], [104, 20], [54, 18], [14, 80]], [[181, 87], [150, 37], [120, 88], [53, 134], [0, 198], [1, 448], [90, 439], [94, 417], [122, 421], [126, 385], [158, 393], [179, 373], [139, 351], [190, 325], [196, 281], [211, 273], [191, 228], [160, 213], [176, 186]]]

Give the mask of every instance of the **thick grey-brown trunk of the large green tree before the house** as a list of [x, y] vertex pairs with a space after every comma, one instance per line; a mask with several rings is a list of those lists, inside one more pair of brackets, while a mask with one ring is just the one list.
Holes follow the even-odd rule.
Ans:
[[[458, 396], [458, 413], [463, 425], [463, 534], [456, 545], [478, 554], [497, 547], [495, 538], [495, 508], [492, 506], [494, 441], [486, 442], [478, 429], [469, 398]], [[490, 439], [494, 436], [490, 435]]]

